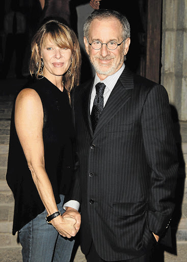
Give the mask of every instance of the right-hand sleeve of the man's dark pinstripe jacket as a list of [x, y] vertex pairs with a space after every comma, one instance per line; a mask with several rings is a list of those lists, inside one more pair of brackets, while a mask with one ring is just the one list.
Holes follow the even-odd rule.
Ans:
[[162, 85], [155, 85], [147, 94], [141, 125], [151, 170], [148, 225], [153, 233], [161, 236], [174, 210], [178, 168], [169, 99]]

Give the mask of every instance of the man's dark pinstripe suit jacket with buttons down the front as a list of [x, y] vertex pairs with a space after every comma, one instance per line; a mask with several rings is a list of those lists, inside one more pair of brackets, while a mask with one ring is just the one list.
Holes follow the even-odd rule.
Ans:
[[81, 203], [81, 248], [93, 239], [107, 261], [143, 255], [174, 209], [177, 173], [168, 95], [162, 85], [125, 69], [101, 113], [90, 120], [93, 79], [72, 96], [79, 170], [72, 191]]

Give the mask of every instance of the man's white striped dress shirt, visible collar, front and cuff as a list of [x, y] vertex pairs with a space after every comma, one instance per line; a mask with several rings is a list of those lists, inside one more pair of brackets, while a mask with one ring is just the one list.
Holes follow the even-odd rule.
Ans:
[[[101, 82], [101, 83], [104, 83], [105, 86], [106, 86], [105, 89], [104, 89], [104, 94], [103, 94], [103, 98], [104, 98], [103, 107], [104, 107], [109, 96], [110, 96], [110, 94], [111, 94], [111, 92], [113, 91], [115, 84], [117, 83], [120, 75], [122, 74], [124, 68], [125, 68], [125, 65], [123, 63], [122, 67], [115, 74], [106, 77], [103, 81], [101, 81], [100, 78], [97, 76], [97, 74], [95, 74], [95, 79], [94, 79], [92, 93], [91, 93], [91, 99], [90, 99], [90, 114], [92, 112], [93, 102], [94, 102], [95, 95], [96, 95], [95, 85], [97, 83]], [[78, 211], [79, 206], [80, 206], [80, 204], [79, 204], [78, 201], [70, 200], [70, 201], [68, 201], [64, 204], [63, 208], [66, 209], [66, 207], [72, 207], [72, 208], [74, 208]]]

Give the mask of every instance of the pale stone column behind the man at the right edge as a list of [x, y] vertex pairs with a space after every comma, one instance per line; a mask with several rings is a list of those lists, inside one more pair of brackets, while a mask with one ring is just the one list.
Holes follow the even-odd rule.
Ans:
[[162, 71], [170, 103], [187, 120], [187, 0], [163, 0]]

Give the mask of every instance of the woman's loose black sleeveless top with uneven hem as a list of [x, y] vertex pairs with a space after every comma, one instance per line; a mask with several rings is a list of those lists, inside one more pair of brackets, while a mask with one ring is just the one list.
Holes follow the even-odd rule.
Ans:
[[[45, 169], [59, 204], [59, 194], [69, 192], [74, 169], [74, 129], [69, 98], [65, 89], [61, 92], [45, 77], [25, 87], [34, 89], [42, 101]], [[15, 199], [13, 234], [45, 209], [16, 133], [14, 110], [15, 102], [7, 169], [7, 182]]]

